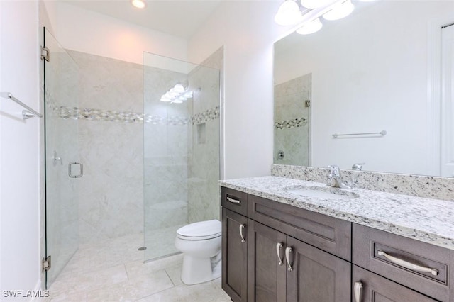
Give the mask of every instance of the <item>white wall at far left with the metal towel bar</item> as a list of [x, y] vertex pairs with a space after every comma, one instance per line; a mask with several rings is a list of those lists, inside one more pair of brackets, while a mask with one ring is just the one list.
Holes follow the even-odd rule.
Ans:
[[[38, 2], [0, 1], [0, 91], [41, 111]], [[43, 120], [23, 121], [21, 107], [0, 99], [0, 289], [40, 286], [40, 135]], [[24, 299], [21, 299], [24, 301]]]

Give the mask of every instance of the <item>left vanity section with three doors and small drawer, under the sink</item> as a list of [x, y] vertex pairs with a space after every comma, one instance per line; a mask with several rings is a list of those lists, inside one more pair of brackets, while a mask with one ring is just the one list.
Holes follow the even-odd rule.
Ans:
[[350, 258], [350, 223], [231, 189], [222, 196], [222, 287], [233, 301], [350, 301], [350, 262], [318, 248]]

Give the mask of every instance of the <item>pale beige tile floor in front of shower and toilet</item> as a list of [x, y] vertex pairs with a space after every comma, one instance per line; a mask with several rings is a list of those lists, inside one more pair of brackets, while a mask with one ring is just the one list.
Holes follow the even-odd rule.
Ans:
[[45, 301], [229, 302], [221, 279], [187, 286], [182, 255], [143, 263], [143, 235], [81, 245], [50, 286]]

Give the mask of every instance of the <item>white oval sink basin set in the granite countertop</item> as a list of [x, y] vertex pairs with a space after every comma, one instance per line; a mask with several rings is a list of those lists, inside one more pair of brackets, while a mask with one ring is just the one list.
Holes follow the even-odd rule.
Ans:
[[315, 197], [321, 199], [335, 199], [335, 200], [350, 200], [358, 198], [359, 195], [353, 192], [345, 191], [343, 189], [321, 186], [299, 186], [292, 187], [286, 190], [290, 194], [295, 194], [304, 197]]

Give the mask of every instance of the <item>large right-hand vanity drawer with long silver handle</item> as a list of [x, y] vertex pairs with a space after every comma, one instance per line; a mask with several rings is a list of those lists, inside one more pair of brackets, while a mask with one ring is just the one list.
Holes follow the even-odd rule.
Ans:
[[441, 301], [454, 301], [453, 260], [443, 247], [353, 224], [353, 264]]

